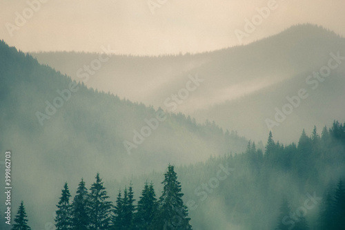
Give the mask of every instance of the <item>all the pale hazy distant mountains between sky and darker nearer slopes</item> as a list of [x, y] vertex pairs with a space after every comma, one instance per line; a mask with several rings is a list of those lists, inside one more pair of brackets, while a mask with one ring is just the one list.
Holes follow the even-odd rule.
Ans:
[[[309, 78], [307, 83], [310, 75], [327, 66], [331, 53], [340, 56], [337, 68], [328, 77]], [[85, 81], [78, 74], [79, 68], [98, 57], [83, 52], [32, 55], [81, 82]], [[345, 119], [344, 109], [337, 106], [345, 97], [344, 57], [344, 37], [321, 26], [300, 24], [246, 46], [213, 52], [159, 57], [112, 55], [85, 83], [155, 108], [170, 109], [164, 99], [186, 84], [188, 74], [197, 73], [204, 82], [177, 111], [195, 117], [197, 122], [215, 120], [222, 128], [237, 130], [252, 140], [264, 140], [269, 130], [265, 119], [274, 119], [275, 108], [282, 110], [288, 103], [286, 97], [305, 88], [308, 98], [273, 128], [276, 137], [289, 143], [297, 141], [302, 127], [311, 132], [314, 125]]]

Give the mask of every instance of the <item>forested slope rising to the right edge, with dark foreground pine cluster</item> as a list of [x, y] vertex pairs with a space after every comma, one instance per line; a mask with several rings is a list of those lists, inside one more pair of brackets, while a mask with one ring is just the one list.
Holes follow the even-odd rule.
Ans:
[[[164, 224], [189, 229], [189, 222], [193, 229], [342, 230], [345, 123], [333, 122], [321, 135], [316, 127], [311, 135], [303, 131], [298, 144], [286, 146], [269, 133], [265, 151], [249, 142], [242, 154], [175, 170], [168, 166], [164, 175], [104, 183], [97, 173], [90, 189], [81, 179], [75, 198], [66, 183], [55, 197], [55, 224], [92, 229], [98, 220], [106, 229], [164, 229]], [[179, 198], [184, 201], [173, 201]]]

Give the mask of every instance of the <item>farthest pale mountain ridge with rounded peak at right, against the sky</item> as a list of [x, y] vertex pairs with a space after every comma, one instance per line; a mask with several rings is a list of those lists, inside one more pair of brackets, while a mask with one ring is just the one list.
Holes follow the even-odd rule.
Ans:
[[[246, 46], [196, 55], [115, 55], [86, 84], [134, 102], [164, 108], [164, 99], [184, 86], [188, 75], [198, 74], [206, 79], [208, 86], [198, 88], [177, 108], [177, 112], [192, 114], [212, 104], [235, 99], [244, 93], [250, 94], [275, 82], [313, 71], [324, 64], [329, 52], [339, 48], [338, 44], [344, 44], [344, 39], [334, 32], [305, 24]], [[96, 57], [73, 52], [32, 55], [42, 64], [49, 64], [77, 82], [81, 81], [77, 76], [78, 68]]]

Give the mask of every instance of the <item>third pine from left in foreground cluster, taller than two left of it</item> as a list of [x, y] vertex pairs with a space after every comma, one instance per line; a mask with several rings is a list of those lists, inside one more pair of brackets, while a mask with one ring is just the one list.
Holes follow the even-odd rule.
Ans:
[[108, 198], [106, 188], [104, 188], [103, 182], [99, 178], [99, 173], [97, 173], [96, 182], [92, 184], [88, 198], [91, 230], [109, 228], [112, 204], [107, 201]]

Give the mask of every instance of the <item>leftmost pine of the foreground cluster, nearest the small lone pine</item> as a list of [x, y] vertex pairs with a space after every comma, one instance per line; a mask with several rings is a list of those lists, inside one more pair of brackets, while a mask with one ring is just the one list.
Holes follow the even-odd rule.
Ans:
[[55, 227], [57, 230], [71, 229], [71, 205], [70, 205], [70, 191], [68, 190], [67, 182], [63, 186], [61, 198], [57, 204], [57, 216], [55, 218]]

